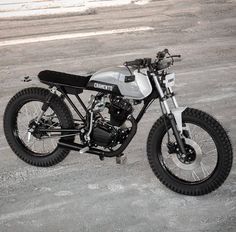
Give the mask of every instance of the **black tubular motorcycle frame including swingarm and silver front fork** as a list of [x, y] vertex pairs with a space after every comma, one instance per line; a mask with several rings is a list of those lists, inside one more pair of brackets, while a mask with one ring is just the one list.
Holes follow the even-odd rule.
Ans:
[[[142, 119], [142, 117], [143, 117], [144, 113], [146, 112], [147, 108], [152, 104], [152, 102], [155, 99], [159, 98], [161, 104], [164, 105], [165, 114], [167, 115], [167, 117], [170, 120], [171, 127], [173, 129], [173, 133], [174, 133], [176, 141], [177, 141], [177, 143], [180, 147], [180, 150], [183, 154], [185, 154], [185, 148], [184, 148], [184, 144], [183, 144], [183, 141], [181, 139], [181, 133], [180, 133], [181, 130], [182, 130], [182, 112], [183, 112], [183, 109], [178, 106], [178, 103], [177, 103], [176, 98], [174, 96], [174, 92], [172, 91], [171, 87], [166, 88], [166, 90], [169, 92], [169, 96], [167, 96], [167, 94], [164, 94], [163, 89], [161, 87], [161, 83], [160, 83], [160, 77], [163, 76], [163, 75], [164, 75], [164, 73], [162, 73], [161, 75], [159, 75], [157, 73], [148, 73], [148, 78], [149, 78], [149, 80], [151, 82], [151, 85], [152, 85], [152, 92], [148, 97], [143, 99], [144, 104], [143, 104], [143, 107], [141, 108], [138, 116], [136, 118], [134, 118], [131, 115], [128, 117], [128, 119], [132, 123], [132, 129], [131, 129], [131, 132], [130, 132], [130, 136], [128, 136], [126, 141], [116, 151], [107, 152], [107, 151], [100, 150], [100, 149], [95, 149], [95, 148], [86, 149], [87, 147], [82, 145], [82, 144], [66, 142], [66, 141], [62, 141], [61, 139], [59, 140], [59, 146], [70, 149], [70, 150], [80, 151], [80, 152], [83, 151], [83, 150], [86, 150], [85, 152], [87, 152], [87, 153], [99, 155], [100, 159], [103, 159], [104, 157], [115, 157], [115, 156], [120, 157], [120, 156], [123, 155], [123, 151], [126, 149], [126, 147], [129, 145], [129, 143], [133, 139], [134, 135], [136, 134], [137, 124]], [[86, 127], [89, 126], [90, 120], [86, 121], [86, 118], [87, 119], [90, 118], [91, 112], [85, 106], [84, 102], [82, 101], [82, 99], [79, 96], [79, 94], [81, 94], [83, 92], [83, 89], [73, 88], [71, 86], [65, 86], [65, 85], [61, 85], [61, 84], [60, 85], [59, 84], [54, 84], [53, 86], [50, 86], [50, 90], [51, 90], [50, 96], [48, 96], [48, 100], [43, 104], [42, 112], [46, 111], [45, 109], [48, 107], [51, 97], [54, 94], [56, 94], [56, 91], [59, 91], [61, 93], [61, 98], [63, 100], [66, 99], [68, 101], [68, 103], [70, 104], [70, 106], [75, 111], [75, 113], [79, 116], [80, 120], [85, 123]], [[86, 113], [85, 116], [80, 112], [80, 110], [73, 103], [71, 98], [68, 96], [69, 94], [74, 95], [76, 97], [77, 101], [79, 102], [79, 104], [82, 106], [82, 108], [84, 109], [84, 111]], [[172, 102], [174, 104], [174, 107], [175, 107], [174, 110], [170, 110], [169, 105], [167, 103], [167, 99], [169, 97], [172, 99]], [[173, 111], [173, 113], [172, 113], [172, 111]], [[40, 114], [40, 116], [42, 116], [42, 115], [43, 115], [43, 113]], [[38, 118], [37, 120], [39, 121], [40, 118]], [[180, 124], [181, 124], [181, 126], [180, 126]], [[65, 137], [69, 137], [69, 136], [74, 136], [74, 135], [79, 134], [81, 130], [73, 128], [73, 129], [41, 129], [41, 131], [71, 133], [71, 134], [65, 136]], [[83, 152], [81, 152], [81, 153], [83, 153]]]

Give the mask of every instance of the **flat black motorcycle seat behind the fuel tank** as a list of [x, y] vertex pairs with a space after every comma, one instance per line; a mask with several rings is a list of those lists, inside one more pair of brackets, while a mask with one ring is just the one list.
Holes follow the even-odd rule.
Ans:
[[56, 72], [51, 70], [44, 70], [38, 74], [38, 78], [42, 83], [45, 84], [57, 84], [62, 86], [73, 86], [73, 87], [81, 87], [84, 88], [90, 76], [78, 76], [63, 72]]

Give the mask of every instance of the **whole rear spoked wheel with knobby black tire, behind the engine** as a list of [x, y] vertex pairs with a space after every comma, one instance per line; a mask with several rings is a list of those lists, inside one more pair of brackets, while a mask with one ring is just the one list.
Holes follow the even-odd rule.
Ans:
[[10, 147], [23, 161], [35, 166], [47, 167], [62, 161], [69, 150], [59, 147], [58, 140], [74, 140], [74, 136], [66, 137], [65, 133], [43, 131], [74, 127], [68, 107], [56, 95], [36, 123], [49, 94], [42, 88], [24, 89], [10, 100], [4, 114], [4, 131]]

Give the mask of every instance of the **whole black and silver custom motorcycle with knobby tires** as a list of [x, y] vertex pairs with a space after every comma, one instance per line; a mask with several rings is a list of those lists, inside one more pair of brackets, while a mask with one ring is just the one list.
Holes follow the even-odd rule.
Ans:
[[[136, 59], [89, 76], [40, 72], [39, 80], [49, 89], [23, 89], [6, 107], [4, 131], [10, 147], [35, 166], [55, 165], [70, 150], [98, 155], [101, 160], [116, 157], [119, 163], [142, 116], [158, 99], [163, 115], [147, 139], [154, 174], [171, 190], [186, 195], [217, 189], [232, 167], [230, 139], [209, 114], [179, 107], [172, 90], [175, 74], [168, 72], [178, 57], [165, 49], [154, 61]], [[88, 106], [80, 98], [84, 90], [97, 92]], [[142, 108], [135, 117], [137, 104]]]

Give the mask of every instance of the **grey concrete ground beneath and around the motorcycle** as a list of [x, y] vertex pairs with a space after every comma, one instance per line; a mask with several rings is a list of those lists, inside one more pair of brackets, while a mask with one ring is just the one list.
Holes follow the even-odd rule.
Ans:
[[[25, 75], [53, 69], [83, 74], [126, 60], [155, 56], [165, 47], [182, 54], [177, 74], [180, 105], [213, 114], [236, 145], [235, 1], [152, 1], [96, 9], [93, 15], [1, 20], [0, 118]], [[153, 30], [37, 42], [38, 37], [111, 29]], [[34, 43], [24, 43], [36, 38]], [[3, 43], [2, 43], [3, 44]], [[87, 99], [90, 93], [84, 93]], [[235, 231], [236, 166], [215, 192], [201, 197], [176, 194], [152, 173], [146, 138], [160, 116], [156, 102], [126, 150], [128, 163], [76, 152], [51, 168], [19, 160], [0, 125], [0, 231]]]

